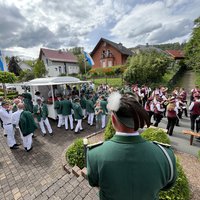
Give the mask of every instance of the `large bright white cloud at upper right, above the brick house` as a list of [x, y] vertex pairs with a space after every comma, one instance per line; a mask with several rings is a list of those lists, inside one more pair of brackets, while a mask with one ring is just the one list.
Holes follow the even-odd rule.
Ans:
[[184, 36], [188, 36], [192, 30], [193, 20], [199, 15], [196, 9], [199, 7], [198, 0], [164, 0], [138, 4], [111, 29], [111, 34], [128, 46], [147, 42], [164, 43], [174, 38], [183, 42]]

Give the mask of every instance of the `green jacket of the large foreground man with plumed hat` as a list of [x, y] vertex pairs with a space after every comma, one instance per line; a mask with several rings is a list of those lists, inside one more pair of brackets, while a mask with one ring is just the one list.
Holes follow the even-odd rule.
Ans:
[[87, 153], [87, 175], [91, 186], [100, 188], [101, 200], [156, 200], [161, 189], [176, 180], [176, 159], [171, 148], [167, 157], [160, 147], [141, 136], [115, 135]]

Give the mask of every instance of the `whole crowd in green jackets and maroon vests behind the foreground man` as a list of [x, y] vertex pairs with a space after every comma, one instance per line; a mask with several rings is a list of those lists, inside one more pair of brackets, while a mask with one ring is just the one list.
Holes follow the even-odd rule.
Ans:
[[[66, 131], [70, 128], [78, 134], [84, 128], [82, 120], [87, 120], [89, 126], [95, 124], [97, 129], [104, 129], [108, 115], [107, 98], [114, 91], [119, 91], [121, 94], [136, 94], [138, 102], [148, 112], [153, 126], [159, 126], [162, 118], [166, 117], [168, 120], [166, 129], [170, 136], [173, 135], [174, 127], [180, 125], [179, 121], [183, 114], [185, 117], [189, 116], [188, 111], [191, 130], [199, 132], [200, 90], [198, 86], [187, 94], [184, 88], [175, 88], [169, 93], [166, 87], [151, 89], [146, 85], [139, 87], [137, 84], [126, 85], [122, 89], [101, 84], [95, 89], [94, 84], [90, 83], [82, 84], [80, 90], [76, 86], [68, 85], [62, 94], [54, 93], [54, 109], [58, 115], [57, 127], [64, 127]], [[190, 95], [190, 102], [187, 101], [188, 95]], [[27, 92], [18, 95], [12, 102], [0, 98], [0, 119], [11, 149], [18, 148], [14, 137], [16, 130], [21, 134], [26, 151], [32, 149], [32, 137], [37, 127], [41, 130], [42, 136], [47, 132], [53, 136], [53, 129], [48, 119], [47, 102], [48, 100], [45, 101], [39, 91], [35, 93], [34, 100]]]

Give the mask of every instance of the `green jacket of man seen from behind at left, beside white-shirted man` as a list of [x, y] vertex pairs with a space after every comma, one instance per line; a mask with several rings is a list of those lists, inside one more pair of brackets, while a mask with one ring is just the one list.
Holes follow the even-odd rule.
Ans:
[[21, 113], [19, 119], [19, 127], [23, 136], [27, 136], [31, 133], [34, 133], [35, 129], [37, 129], [37, 125], [35, 124], [31, 112], [23, 111]]

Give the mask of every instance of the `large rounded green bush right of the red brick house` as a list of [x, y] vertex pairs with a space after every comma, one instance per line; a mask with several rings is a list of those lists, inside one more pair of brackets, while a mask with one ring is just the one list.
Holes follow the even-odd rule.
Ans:
[[169, 64], [170, 60], [164, 54], [156, 51], [143, 52], [128, 59], [124, 80], [128, 83], [157, 83]]

